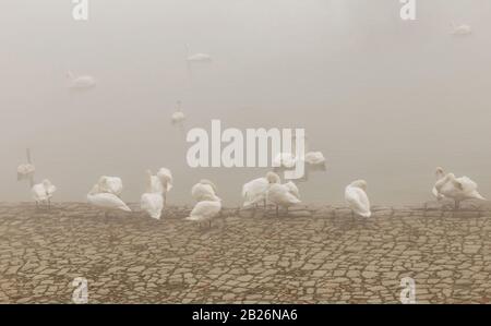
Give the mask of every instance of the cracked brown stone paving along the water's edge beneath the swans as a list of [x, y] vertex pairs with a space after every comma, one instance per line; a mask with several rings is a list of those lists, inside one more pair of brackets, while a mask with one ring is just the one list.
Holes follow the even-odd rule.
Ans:
[[[132, 207], [137, 207], [132, 205]], [[140, 212], [108, 218], [86, 204], [0, 204], [0, 303], [489, 303], [491, 206], [224, 209], [211, 229]]]

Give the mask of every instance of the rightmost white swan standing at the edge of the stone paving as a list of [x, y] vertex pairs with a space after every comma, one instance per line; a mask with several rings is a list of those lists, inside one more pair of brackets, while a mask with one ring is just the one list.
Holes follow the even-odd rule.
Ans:
[[486, 201], [486, 198], [478, 192], [477, 183], [468, 177], [455, 178], [454, 173], [447, 173], [445, 177], [436, 181], [434, 188], [438, 194], [442, 194], [444, 197], [454, 200], [455, 209], [458, 209], [460, 202], [465, 200]]

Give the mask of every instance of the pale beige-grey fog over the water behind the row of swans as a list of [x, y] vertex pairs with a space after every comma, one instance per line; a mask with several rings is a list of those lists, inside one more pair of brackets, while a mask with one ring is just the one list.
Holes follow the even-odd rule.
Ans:
[[[430, 201], [436, 166], [490, 197], [491, 2], [417, 4], [402, 21], [398, 0], [92, 0], [75, 22], [70, 0], [3, 0], [0, 201], [31, 201], [16, 181], [29, 147], [55, 201], [83, 202], [107, 174], [136, 202], [145, 170], [167, 167], [168, 203], [191, 203], [207, 178], [239, 204], [267, 169], [190, 168], [177, 100], [185, 130], [304, 128], [327, 170], [299, 184], [303, 202], [342, 203], [358, 178], [374, 204]], [[451, 35], [452, 23], [472, 34]], [[187, 45], [213, 62], [190, 74]], [[97, 86], [74, 92], [67, 71]]]

